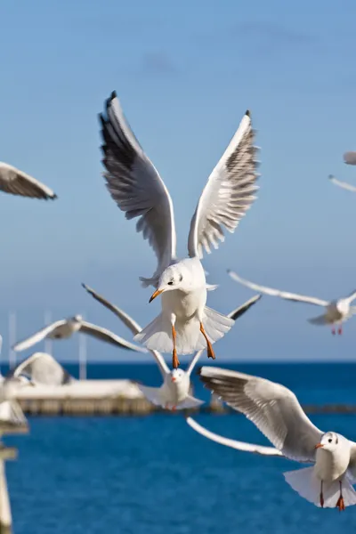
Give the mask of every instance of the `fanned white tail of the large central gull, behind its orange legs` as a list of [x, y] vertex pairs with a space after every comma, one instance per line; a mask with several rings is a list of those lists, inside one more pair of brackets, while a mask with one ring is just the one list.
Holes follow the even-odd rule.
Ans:
[[[234, 320], [222, 313], [205, 307], [203, 325], [206, 336], [213, 344], [226, 334], [234, 324]], [[200, 332], [198, 318], [194, 316], [189, 322], [175, 322], [176, 349], [178, 354], [191, 354], [206, 348], [206, 339]], [[172, 352], [172, 325], [162, 313], [143, 330], [134, 336], [134, 341], [144, 344], [150, 350]]]

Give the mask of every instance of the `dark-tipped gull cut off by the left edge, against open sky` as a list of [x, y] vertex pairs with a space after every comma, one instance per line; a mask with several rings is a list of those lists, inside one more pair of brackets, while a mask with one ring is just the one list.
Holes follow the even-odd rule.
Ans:
[[44, 198], [54, 200], [57, 195], [44, 183], [23, 173], [16, 167], [0, 161], [0, 190], [12, 195], [28, 198]]

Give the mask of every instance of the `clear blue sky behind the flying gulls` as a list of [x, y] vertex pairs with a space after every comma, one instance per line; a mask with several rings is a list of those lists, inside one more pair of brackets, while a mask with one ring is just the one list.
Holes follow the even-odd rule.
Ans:
[[[200, 191], [251, 109], [261, 189], [238, 231], [206, 258], [209, 282], [220, 284], [209, 305], [229, 312], [252, 295], [227, 268], [324, 298], [356, 287], [356, 196], [327, 180], [356, 178], [342, 158], [356, 150], [354, 2], [16, 0], [1, 4], [0, 18], [0, 159], [59, 196], [1, 194], [4, 357], [9, 311], [20, 337], [42, 326], [44, 310], [53, 319], [83, 312], [127, 335], [82, 281], [142, 326], [158, 312], [138, 280], [155, 257], [101, 177], [97, 114], [113, 89], [174, 199], [181, 255]], [[356, 321], [333, 338], [307, 323], [319, 312], [265, 296], [216, 344], [217, 355], [353, 359]], [[88, 348], [91, 359], [127, 359], [96, 342]], [[54, 354], [75, 359], [77, 340]]]

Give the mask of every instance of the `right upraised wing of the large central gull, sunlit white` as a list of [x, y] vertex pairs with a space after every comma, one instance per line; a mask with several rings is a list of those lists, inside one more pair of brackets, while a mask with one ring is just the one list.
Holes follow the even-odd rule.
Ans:
[[241, 218], [255, 200], [257, 161], [255, 133], [247, 110], [236, 134], [214, 171], [210, 174], [190, 223], [190, 257], [209, 254], [224, 240], [223, 227], [235, 231]]

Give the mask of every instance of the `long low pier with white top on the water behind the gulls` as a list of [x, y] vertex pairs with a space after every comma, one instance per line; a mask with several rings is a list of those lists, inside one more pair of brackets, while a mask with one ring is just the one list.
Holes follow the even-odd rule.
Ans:
[[[78, 380], [58, 386], [38, 385], [21, 388], [16, 399], [29, 416], [144, 416], [163, 410], [147, 401], [138, 384], [131, 380]], [[309, 414], [356, 414], [356, 405], [346, 404], [303, 405], [303, 409]], [[223, 415], [233, 410], [213, 393], [210, 401], [198, 409], [184, 411]]]

